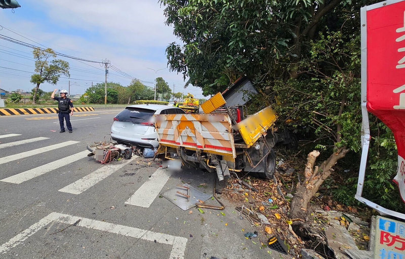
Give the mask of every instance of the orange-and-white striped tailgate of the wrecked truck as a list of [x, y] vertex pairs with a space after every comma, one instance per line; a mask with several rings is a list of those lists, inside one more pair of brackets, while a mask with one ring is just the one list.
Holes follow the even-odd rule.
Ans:
[[161, 145], [236, 157], [228, 114], [154, 115]]

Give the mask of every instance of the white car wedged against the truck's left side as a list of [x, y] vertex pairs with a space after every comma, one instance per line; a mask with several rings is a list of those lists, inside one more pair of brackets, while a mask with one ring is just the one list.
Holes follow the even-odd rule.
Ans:
[[130, 144], [154, 149], [159, 145], [157, 133], [151, 121], [155, 114], [185, 114], [177, 107], [160, 104], [127, 106], [114, 117], [111, 138], [118, 144]]

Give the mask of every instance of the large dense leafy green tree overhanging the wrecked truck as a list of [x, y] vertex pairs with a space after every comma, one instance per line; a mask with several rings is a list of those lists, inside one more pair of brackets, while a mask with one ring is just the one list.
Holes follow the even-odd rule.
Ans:
[[[253, 102], [257, 108], [277, 99], [279, 121], [291, 119], [297, 129], [306, 130], [305, 180], [296, 188], [290, 212], [300, 216], [338, 161], [349, 151], [358, 160], [353, 152], [360, 150], [361, 131], [359, 10], [378, 1], [160, 2], [167, 24], [184, 42], [167, 48], [172, 71], [183, 73], [187, 83], [201, 87], [204, 94], [222, 91], [247, 75], [261, 93]], [[392, 176], [392, 134], [378, 120], [371, 127], [371, 157], [384, 163], [372, 160], [369, 169], [373, 174], [384, 169]], [[322, 153], [310, 152], [313, 149]], [[390, 176], [378, 179], [380, 197], [394, 195]], [[366, 185], [375, 183], [370, 177]], [[371, 196], [377, 198], [373, 191]]]

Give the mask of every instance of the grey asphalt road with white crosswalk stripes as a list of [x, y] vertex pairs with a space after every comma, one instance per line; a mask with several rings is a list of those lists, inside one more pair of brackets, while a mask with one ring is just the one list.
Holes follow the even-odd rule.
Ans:
[[224, 199], [224, 215], [203, 214], [160, 195], [183, 183], [212, 194], [215, 175], [88, 157], [119, 111], [75, 113], [71, 134], [59, 133], [55, 114], [0, 117], [0, 258], [290, 258], [261, 248], [263, 232], [246, 239], [264, 228]]

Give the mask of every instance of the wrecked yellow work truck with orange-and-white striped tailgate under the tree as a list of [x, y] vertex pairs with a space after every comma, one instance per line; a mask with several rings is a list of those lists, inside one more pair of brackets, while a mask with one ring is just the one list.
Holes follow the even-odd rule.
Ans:
[[[246, 86], [240, 83], [237, 89], [242, 92]], [[275, 111], [269, 106], [247, 116], [240, 96], [227, 96], [231, 105], [221, 93], [201, 104], [204, 114], [155, 115], [157, 154], [180, 159], [190, 168], [216, 172], [220, 181], [241, 171], [272, 178], [275, 142], [271, 128], [277, 119]]]

